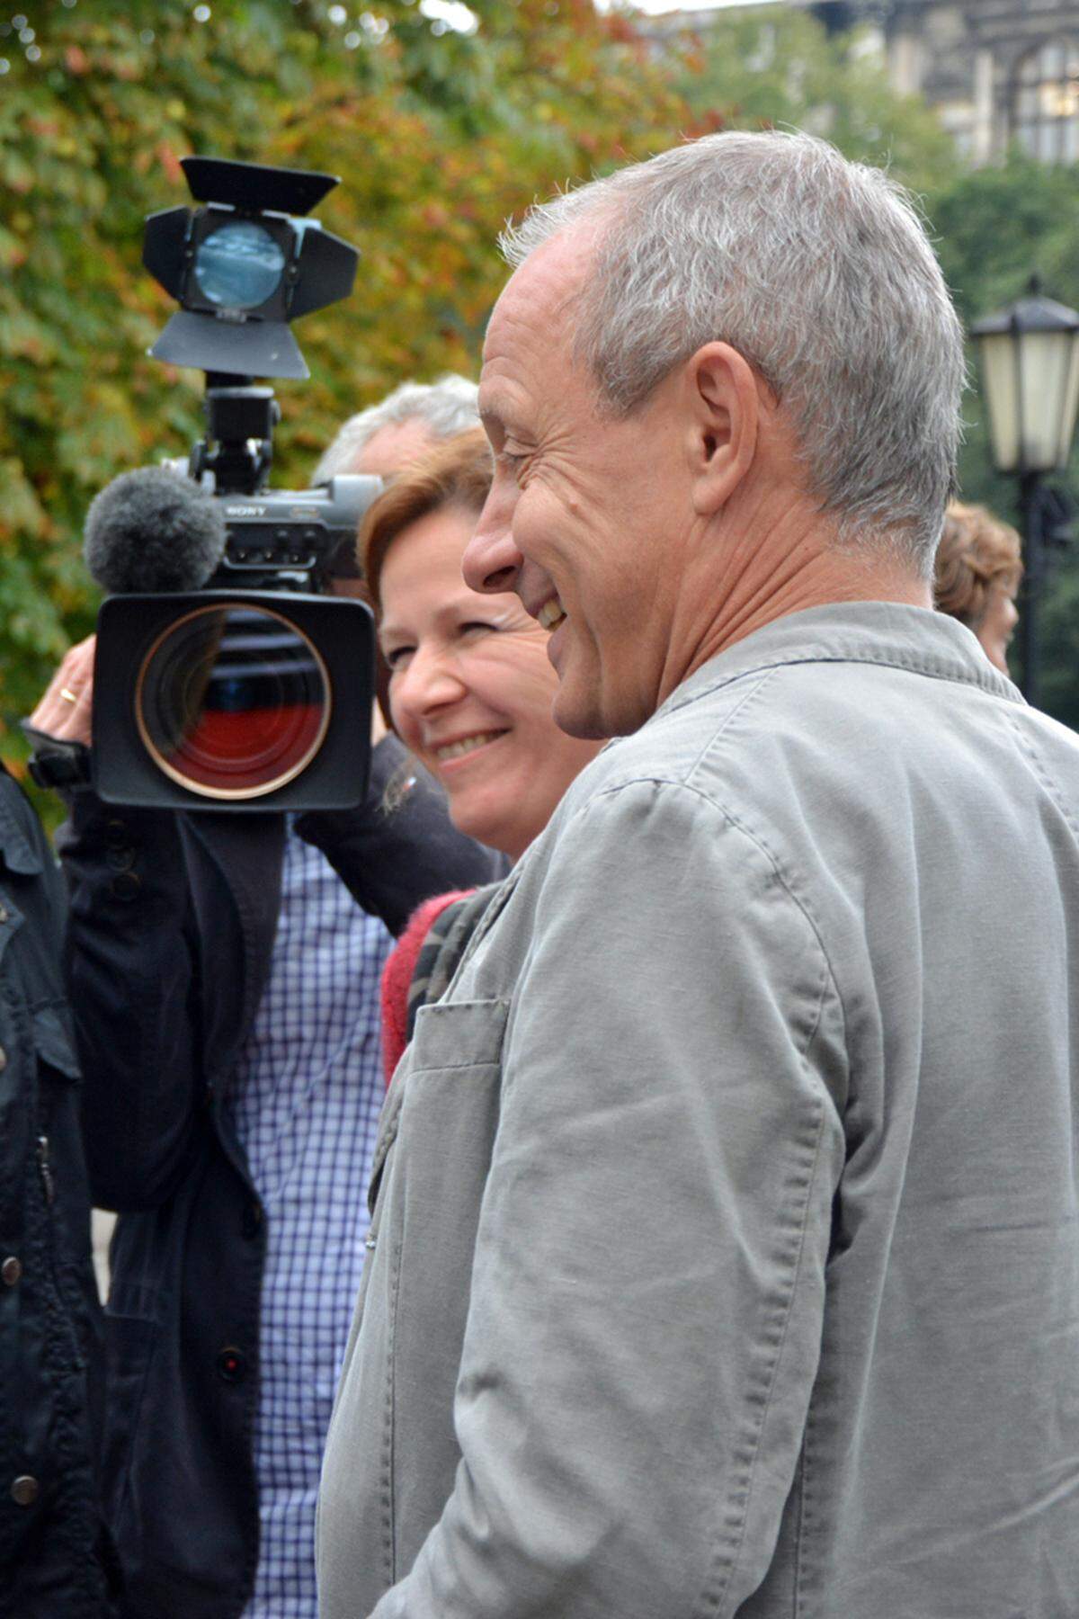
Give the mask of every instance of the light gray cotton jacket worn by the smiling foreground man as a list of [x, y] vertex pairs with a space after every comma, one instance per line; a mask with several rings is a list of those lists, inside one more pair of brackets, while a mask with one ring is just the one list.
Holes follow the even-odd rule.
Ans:
[[1079, 1614], [1077, 1120], [1079, 743], [927, 610], [725, 651], [419, 1013], [325, 1619]]

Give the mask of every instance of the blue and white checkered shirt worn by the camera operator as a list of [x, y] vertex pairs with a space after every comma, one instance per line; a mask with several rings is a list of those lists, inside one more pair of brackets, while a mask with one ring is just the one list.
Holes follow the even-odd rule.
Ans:
[[254, 1462], [259, 1566], [244, 1619], [317, 1619], [322, 1447], [367, 1235], [385, 1093], [379, 981], [393, 947], [291, 829], [270, 976], [231, 1106], [267, 1216]]

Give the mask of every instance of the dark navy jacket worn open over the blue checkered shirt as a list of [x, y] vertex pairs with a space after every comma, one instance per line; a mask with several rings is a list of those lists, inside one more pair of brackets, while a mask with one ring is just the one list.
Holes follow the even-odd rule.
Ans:
[[[401, 759], [387, 738], [366, 810], [298, 822], [393, 931], [429, 894], [500, 869], [425, 779], [380, 808]], [[60, 840], [91, 1183], [121, 1211], [104, 1486], [133, 1619], [231, 1619], [254, 1579], [265, 1227], [222, 1101], [269, 973], [283, 839], [281, 816], [113, 810], [79, 792]]]

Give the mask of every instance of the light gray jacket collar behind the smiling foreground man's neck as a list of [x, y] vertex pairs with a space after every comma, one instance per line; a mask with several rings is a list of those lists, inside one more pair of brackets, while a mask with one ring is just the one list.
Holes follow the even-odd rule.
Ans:
[[744, 675], [783, 664], [880, 664], [932, 680], [980, 686], [1009, 703], [1019, 690], [985, 657], [977, 638], [946, 614], [899, 602], [830, 602], [775, 618], [717, 652], [657, 709], [670, 714]]

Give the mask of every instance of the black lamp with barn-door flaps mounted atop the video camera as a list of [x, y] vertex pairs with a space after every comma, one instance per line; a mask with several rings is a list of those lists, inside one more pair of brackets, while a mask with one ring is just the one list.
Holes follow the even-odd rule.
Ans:
[[306, 377], [288, 322], [346, 298], [359, 253], [304, 219], [335, 175], [184, 157], [196, 209], [146, 222], [142, 262], [181, 306], [155, 359], [236, 377]]

